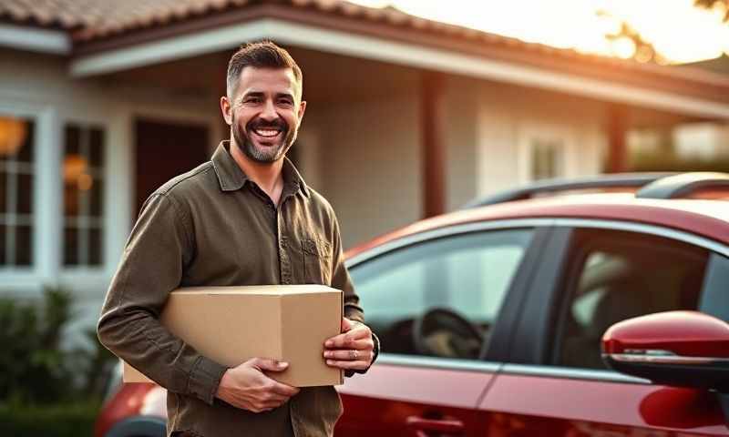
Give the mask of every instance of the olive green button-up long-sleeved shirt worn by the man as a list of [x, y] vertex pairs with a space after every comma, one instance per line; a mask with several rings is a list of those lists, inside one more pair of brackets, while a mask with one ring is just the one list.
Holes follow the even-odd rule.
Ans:
[[227, 368], [159, 323], [180, 287], [303, 283], [343, 290], [344, 316], [363, 320], [329, 203], [284, 159], [277, 207], [227, 147], [147, 199], [111, 281], [99, 339], [168, 390], [168, 435], [332, 435], [342, 413], [334, 387], [303, 388], [271, 412], [235, 408], [215, 397]]

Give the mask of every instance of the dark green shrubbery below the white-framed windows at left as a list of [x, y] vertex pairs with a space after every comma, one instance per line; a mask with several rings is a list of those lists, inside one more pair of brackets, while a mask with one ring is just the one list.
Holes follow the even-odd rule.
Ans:
[[95, 329], [86, 332], [91, 349], [61, 348], [72, 303], [57, 289], [44, 290], [40, 302], [0, 299], [0, 436], [93, 434], [116, 360]]

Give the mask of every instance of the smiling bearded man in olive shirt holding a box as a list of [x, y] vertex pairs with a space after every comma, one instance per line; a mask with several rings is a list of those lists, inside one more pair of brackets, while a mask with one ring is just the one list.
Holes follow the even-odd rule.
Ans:
[[375, 359], [334, 211], [285, 158], [306, 109], [302, 90], [299, 66], [270, 42], [231, 57], [221, 97], [230, 141], [147, 199], [108, 290], [99, 339], [168, 389], [169, 435], [331, 435], [342, 412], [334, 387], [267, 376], [286, 362], [228, 369], [173, 336], [158, 318], [179, 287], [330, 285], [344, 291], [344, 333], [325, 341], [323, 359], [348, 375]]

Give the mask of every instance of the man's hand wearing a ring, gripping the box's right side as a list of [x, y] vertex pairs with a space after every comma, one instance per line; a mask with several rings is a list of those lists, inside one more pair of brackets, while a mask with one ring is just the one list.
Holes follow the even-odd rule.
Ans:
[[367, 370], [375, 358], [372, 330], [364, 323], [343, 318], [342, 332], [324, 341], [326, 364], [344, 370]]

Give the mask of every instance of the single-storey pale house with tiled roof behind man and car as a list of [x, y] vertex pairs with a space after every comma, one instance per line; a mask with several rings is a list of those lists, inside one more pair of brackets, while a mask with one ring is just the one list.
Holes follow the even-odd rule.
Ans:
[[228, 135], [227, 61], [263, 38], [303, 67], [292, 158], [334, 205], [345, 247], [535, 178], [620, 171], [631, 129], [729, 119], [723, 76], [392, 8], [5, 0], [0, 293], [66, 287], [77, 327], [92, 326], [140, 203]]

